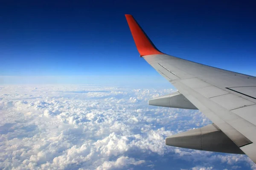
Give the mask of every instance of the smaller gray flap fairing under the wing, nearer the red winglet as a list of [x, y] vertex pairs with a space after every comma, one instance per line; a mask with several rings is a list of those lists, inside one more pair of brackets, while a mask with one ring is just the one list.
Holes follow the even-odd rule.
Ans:
[[148, 100], [148, 105], [198, 110], [198, 108], [196, 108], [188, 99], [186, 99], [185, 96], [183, 96], [183, 94], [180, 94], [178, 91]]

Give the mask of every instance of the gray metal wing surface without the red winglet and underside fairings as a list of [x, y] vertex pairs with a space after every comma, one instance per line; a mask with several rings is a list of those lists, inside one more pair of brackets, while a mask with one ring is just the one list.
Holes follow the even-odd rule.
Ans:
[[143, 58], [256, 162], [256, 77], [166, 54]]

